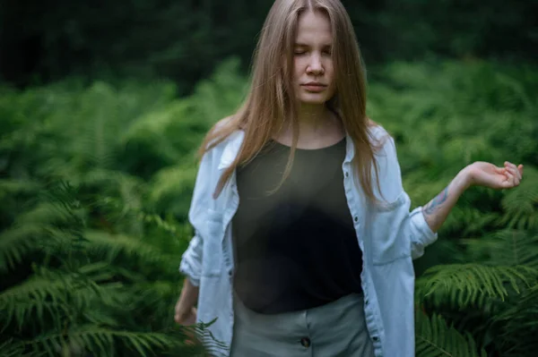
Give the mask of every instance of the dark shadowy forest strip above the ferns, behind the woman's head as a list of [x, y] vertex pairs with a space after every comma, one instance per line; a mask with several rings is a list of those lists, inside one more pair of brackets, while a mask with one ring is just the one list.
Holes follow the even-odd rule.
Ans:
[[[166, 78], [188, 93], [223, 58], [247, 67], [273, 1], [2, 0], [0, 73], [16, 86]], [[430, 57], [535, 61], [538, 1], [343, 1], [366, 63]]]

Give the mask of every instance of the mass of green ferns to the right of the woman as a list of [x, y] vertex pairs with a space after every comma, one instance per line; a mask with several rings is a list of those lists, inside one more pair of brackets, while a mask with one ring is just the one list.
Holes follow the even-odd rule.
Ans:
[[[394, 63], [372, 73], [369, 115], [395, 137], [415, 205], [473, 161], [525, 165], [514, 190], [466, 191], [440, 242], [416, 262], [416, 302], [430, 316], [417, 318], [418, 356], [465, 355], [445, 347], [452, 345], [490, 356], [535, 354], [537, 73], [481, 61]], [[465, 337], [451, 336], [454, 328]]]

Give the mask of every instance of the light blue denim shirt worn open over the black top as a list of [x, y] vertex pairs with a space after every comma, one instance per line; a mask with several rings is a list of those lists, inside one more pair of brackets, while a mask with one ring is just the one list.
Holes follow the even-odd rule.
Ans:
[[[363, 259], [358, 262], [362, 261], [364, 311], [376, 357], [412, 357], [415, 355], [412, 259], [421, 257], [424, 247], [435, 242], [437, 234], [424, 220], [421, 207], [410, 213], [411, 201], [402, 186], [394, 140], [381, 126], [370, 132], [372, 140], [384, 136], [387, 140], [376, 154], [382, 192], [374, 192], [388, 203], [374, 207], [367, 202], [351, 166], [355, 150], [349, 135], [342, 164], [343, 186], [363, 252]], [[189, 210], [195, 236], [179, 267], [180, 272], [200, 287], [198, 322], [217, 318], [209, 329], [215, 339], [228, 346], [234, 322], [231, 219], [239, 206], [235, 173], [216, 200], [213, 191], [223, 170], [238, 155], [243, 138], [242, 131], [232, 133], [202, 159]], [[218, 355], [228, 357], [229, 353]]]

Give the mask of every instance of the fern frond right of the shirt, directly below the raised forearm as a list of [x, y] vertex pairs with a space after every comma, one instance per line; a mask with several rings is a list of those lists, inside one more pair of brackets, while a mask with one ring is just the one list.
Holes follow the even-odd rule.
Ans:
[[538, 270], [525, 266], [489, 267], [480, 264], [441, 265], [426, 270], [417, 279], [417, 298], [436, 303], [449, 301], [454, 306], [467, 306], [484, 297], [501, 301], [508, 288], [519, 293], [522, 286], [532, 284]]

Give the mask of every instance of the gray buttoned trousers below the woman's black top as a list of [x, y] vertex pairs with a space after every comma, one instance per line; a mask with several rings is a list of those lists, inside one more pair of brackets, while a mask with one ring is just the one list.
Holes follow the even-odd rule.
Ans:
[[360, 294], [314, 309], [258, 314], [234, 296], [230, 357], [373, 357]]

